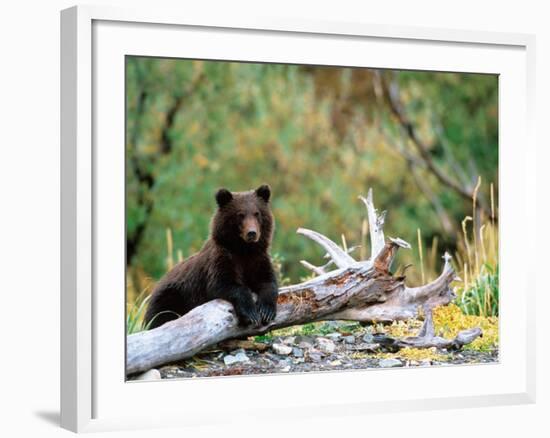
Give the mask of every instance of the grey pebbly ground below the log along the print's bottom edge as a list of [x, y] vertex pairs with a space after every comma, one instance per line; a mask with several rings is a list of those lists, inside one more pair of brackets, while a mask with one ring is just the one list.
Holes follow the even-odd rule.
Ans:
[[[384, 355], [368, 332], [342, 335], [275, 337], [261, 342], [226, 341], [192, 359], [159, 368], [163, 379], [300, 373], [393, 367], [426, 367], [497, 363], [498, 350], [437, 351], [435, 358], [411, 360]], [[384, 357], [387, 356], [387, 357]], [[158, 373], [156, 374], [158, 376]]]

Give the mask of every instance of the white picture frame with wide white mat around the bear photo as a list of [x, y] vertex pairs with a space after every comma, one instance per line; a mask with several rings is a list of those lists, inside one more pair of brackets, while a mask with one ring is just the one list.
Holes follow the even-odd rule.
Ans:
[[[220, 48], [222, 41], [228, 46]], [[534, 46], [534, 36], [524, 34], [292, 17], [229, 21], [215, 14], [155, 8], [78, 6], [62, 11], [62, 427], [100, 431], [201, 424], [214, 415], [223, 422], [236, 416], [267, 418], [266, 412], [296, 418], [534, 402], [535, 276], [521, 260], [535, 249], [534, 236], [522, 232], [535, 214], [525, 218], [521, 208], [536, 205]], [[362, 49], [369, 52], [368, 60], [358, 55]], [[125, 383], [124, 248], [117, 242], [124, 232], [120, 67], [127, 54], [499, 74], [500, 363]], [[415, 373], [416, 384], [407, 379], [409, 373]], [[322, 392], [315, 389], [320, 379]], [[395, 387], [388, 391], [390, 380]], [[442, 385], [449, 381], [455, 384]], [[288, 396], [302, 385], [307, 391], [298, 391], [300, 397]], [[265, 409], [255, 406], [256, 398], [246, 397], [258, 388], [271, 394]], [[134, 403], [139, 399], [158, 402], [144, 410]]]

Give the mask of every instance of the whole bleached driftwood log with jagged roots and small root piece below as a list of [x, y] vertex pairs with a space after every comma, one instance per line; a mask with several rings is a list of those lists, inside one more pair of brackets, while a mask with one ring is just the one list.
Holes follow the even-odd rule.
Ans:
[[[182, 317], [156, 329], [127, 337], [126, 372], [134, 374], [155, 366], [189, 358], [226, 339], [262, 334], [277, 328], [321, 320], [355, 320], [391, 322], [425, 315], [419, 336], [396, 340], [398, 346], [417, 348], [454, 346], [459, 348], [481, 335], [473, 329], [459, 333], [454, 340], [434, 336], [432, 309], [449, 304], [455, 297], [450, 283], [457, 277], [445, 254], [441, 275], [424, 286], [405, 286], [404, 276], [393, 276], [390, 267], [399, 248], [410, 248], [401, 239], [385, 241], [385, 212], [378, 215], [372, 190], [362, 198], [367, 208], [370, 227], [371, 257], [356, 261], [349, 252], [328, 237], [300, 228], [302, 234], [321, 245], [330, 258], [317, 267], [302, 261], [317, 276], [300, 284], [281, 288], [277, 300], [277, 316], [263, 327], [240, 327], [231, 304], [224, 300], [210, 301]], [[350, 251], [351, 252], [351, 251]], [[336, 269], [327, 272], [330, 265]]]

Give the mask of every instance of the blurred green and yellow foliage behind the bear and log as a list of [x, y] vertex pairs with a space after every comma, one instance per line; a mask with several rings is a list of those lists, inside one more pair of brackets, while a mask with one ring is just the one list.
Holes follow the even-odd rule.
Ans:
[[407, 281], [448, 250], [462, 311], [498, 315], [497, 76], [127, 57], [126, 98], [129, 308], [201, 248], [217, 188], [269, 183], [283, 283], [324, 264], [298, 227], [366, 257], [372, 187]]

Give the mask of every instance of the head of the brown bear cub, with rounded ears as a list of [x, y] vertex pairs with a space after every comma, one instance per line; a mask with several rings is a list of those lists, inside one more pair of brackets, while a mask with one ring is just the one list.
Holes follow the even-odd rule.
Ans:
[[273, 234], [271, 189], [262, 185], [247, 192], [216, 192], [218, 210], [212, 220], [214, 240], [232, 250], [266, 250]]

